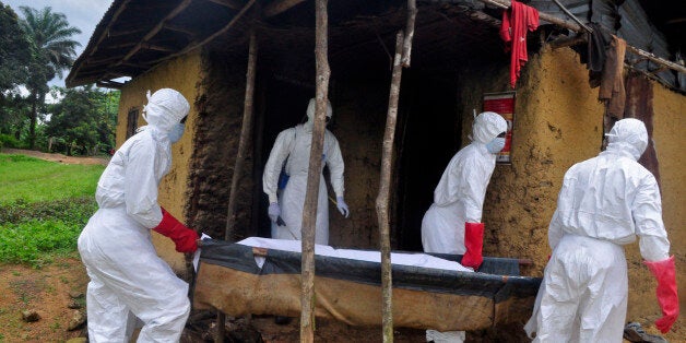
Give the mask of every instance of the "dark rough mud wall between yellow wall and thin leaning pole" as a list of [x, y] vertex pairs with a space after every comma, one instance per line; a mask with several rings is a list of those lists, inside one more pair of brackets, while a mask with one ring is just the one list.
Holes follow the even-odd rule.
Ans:
[[[198, 123], [192, 142], [186, 211], [193, 227], [215, 239], [224, 239], [226, 228], [228, 196], [243, 122], [245, 60], [216, 52], [205, 52], [202, 58], [202, 94], [196, 102]], [[237, 229], [228, 240], [243, 239], [250, 226], [251, 170], [252, 141], [247, 146], [244, 175], [238, 184]]]

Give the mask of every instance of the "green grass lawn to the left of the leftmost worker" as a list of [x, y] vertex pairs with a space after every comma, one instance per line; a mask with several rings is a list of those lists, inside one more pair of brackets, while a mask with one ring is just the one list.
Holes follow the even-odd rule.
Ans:
[[75, 255], [103, 170], [0, 154], [0, 261], [39, 268]]

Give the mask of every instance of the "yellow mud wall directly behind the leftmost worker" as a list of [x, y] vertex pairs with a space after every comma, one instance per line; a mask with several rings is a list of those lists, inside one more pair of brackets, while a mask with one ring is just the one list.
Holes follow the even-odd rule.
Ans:
[[[139, 109], [138, 126], [144, 126], [145, 120], [140, 115], [143, 105], [147, 104], [145, 93], [152, 93], [159, 88], [175, 88], [179, 91], [190, 106], [186, 121], [186, 132], [181, 140], [172, 145], [172, 168], [159, 184], [158, 202], [179, 221], [188, 224], [186, 212], [187, 189], [190, 172], [190, 155], [193, 152], [193, 132], [198, 121], [198, 110], [193, 106], [199, 92], [200, 82], [200, 55], [199, 52], [164, 62], [149, 72], [131, 80], [121, 88], [119, 103], [119, 117], [117, 121], [117, 147], [121, 146], [127, 137], [127, 116], [130, 109]], [[157, 233], [152, 232], [153, 244], [157, 253], [165, 259], [178, 273], [185, 273], [186, 260], [182, 253], [175, 250], [174, 243]]]

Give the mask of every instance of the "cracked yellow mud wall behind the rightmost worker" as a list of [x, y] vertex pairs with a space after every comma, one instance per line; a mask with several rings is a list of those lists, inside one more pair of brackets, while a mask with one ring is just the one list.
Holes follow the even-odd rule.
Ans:
[[[494, 80], [507, 80], [502, 73], [507, 71], [493, 73]], [[589, 86], [586, 66], [571, 49], [544, 49], [530, 56], [518, 83], [512, 164], [497, 165], [488, 186], [483, 215], [484, 255], [531, 259], [534, 265], [523, 268], [522, 273], [540, 276], [551, 253], [547, 226], [564, 174], [575, 163], [600, 153], [604, 108], [596, 100], [598, 88]], [[686, 142], [679, 119], [686, 113], [686, 97], [654, 82], [653, 90], [653, 140], [662, 182], [663, 218], [672, 243], [671, 253], [676, 257], [677, 275], [683, 275], [686, 237], [681, 212], [686, 188]], [[473, 90], [463, 98], [474, 103], [482, 92], [495, 91]], [[471, 130], [471, 114], [463, 118], [464, 128]], [[466, 137], [468, 132], [463, 133]], [[629, 269], [627, 321], [650, 327], [660, 317], [655, 282], [642, 263], [638, 243], [625, 246], [625, 251]], [[677, 276], [677, 283], [678, 288], [686, 289], [684, 277]], [[677, 321], [673, 330], [676, 332], [667, 334], [667, 340], [681, 336], [682, 322], [683, 319]]]

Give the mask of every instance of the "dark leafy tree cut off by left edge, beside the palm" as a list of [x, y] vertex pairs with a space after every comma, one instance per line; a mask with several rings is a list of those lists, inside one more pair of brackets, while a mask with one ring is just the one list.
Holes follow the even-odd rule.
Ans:
[[29, 58], [28, 40], [16, 13], [0, 2], [0, 102], [8, 90], [26, 81]]

